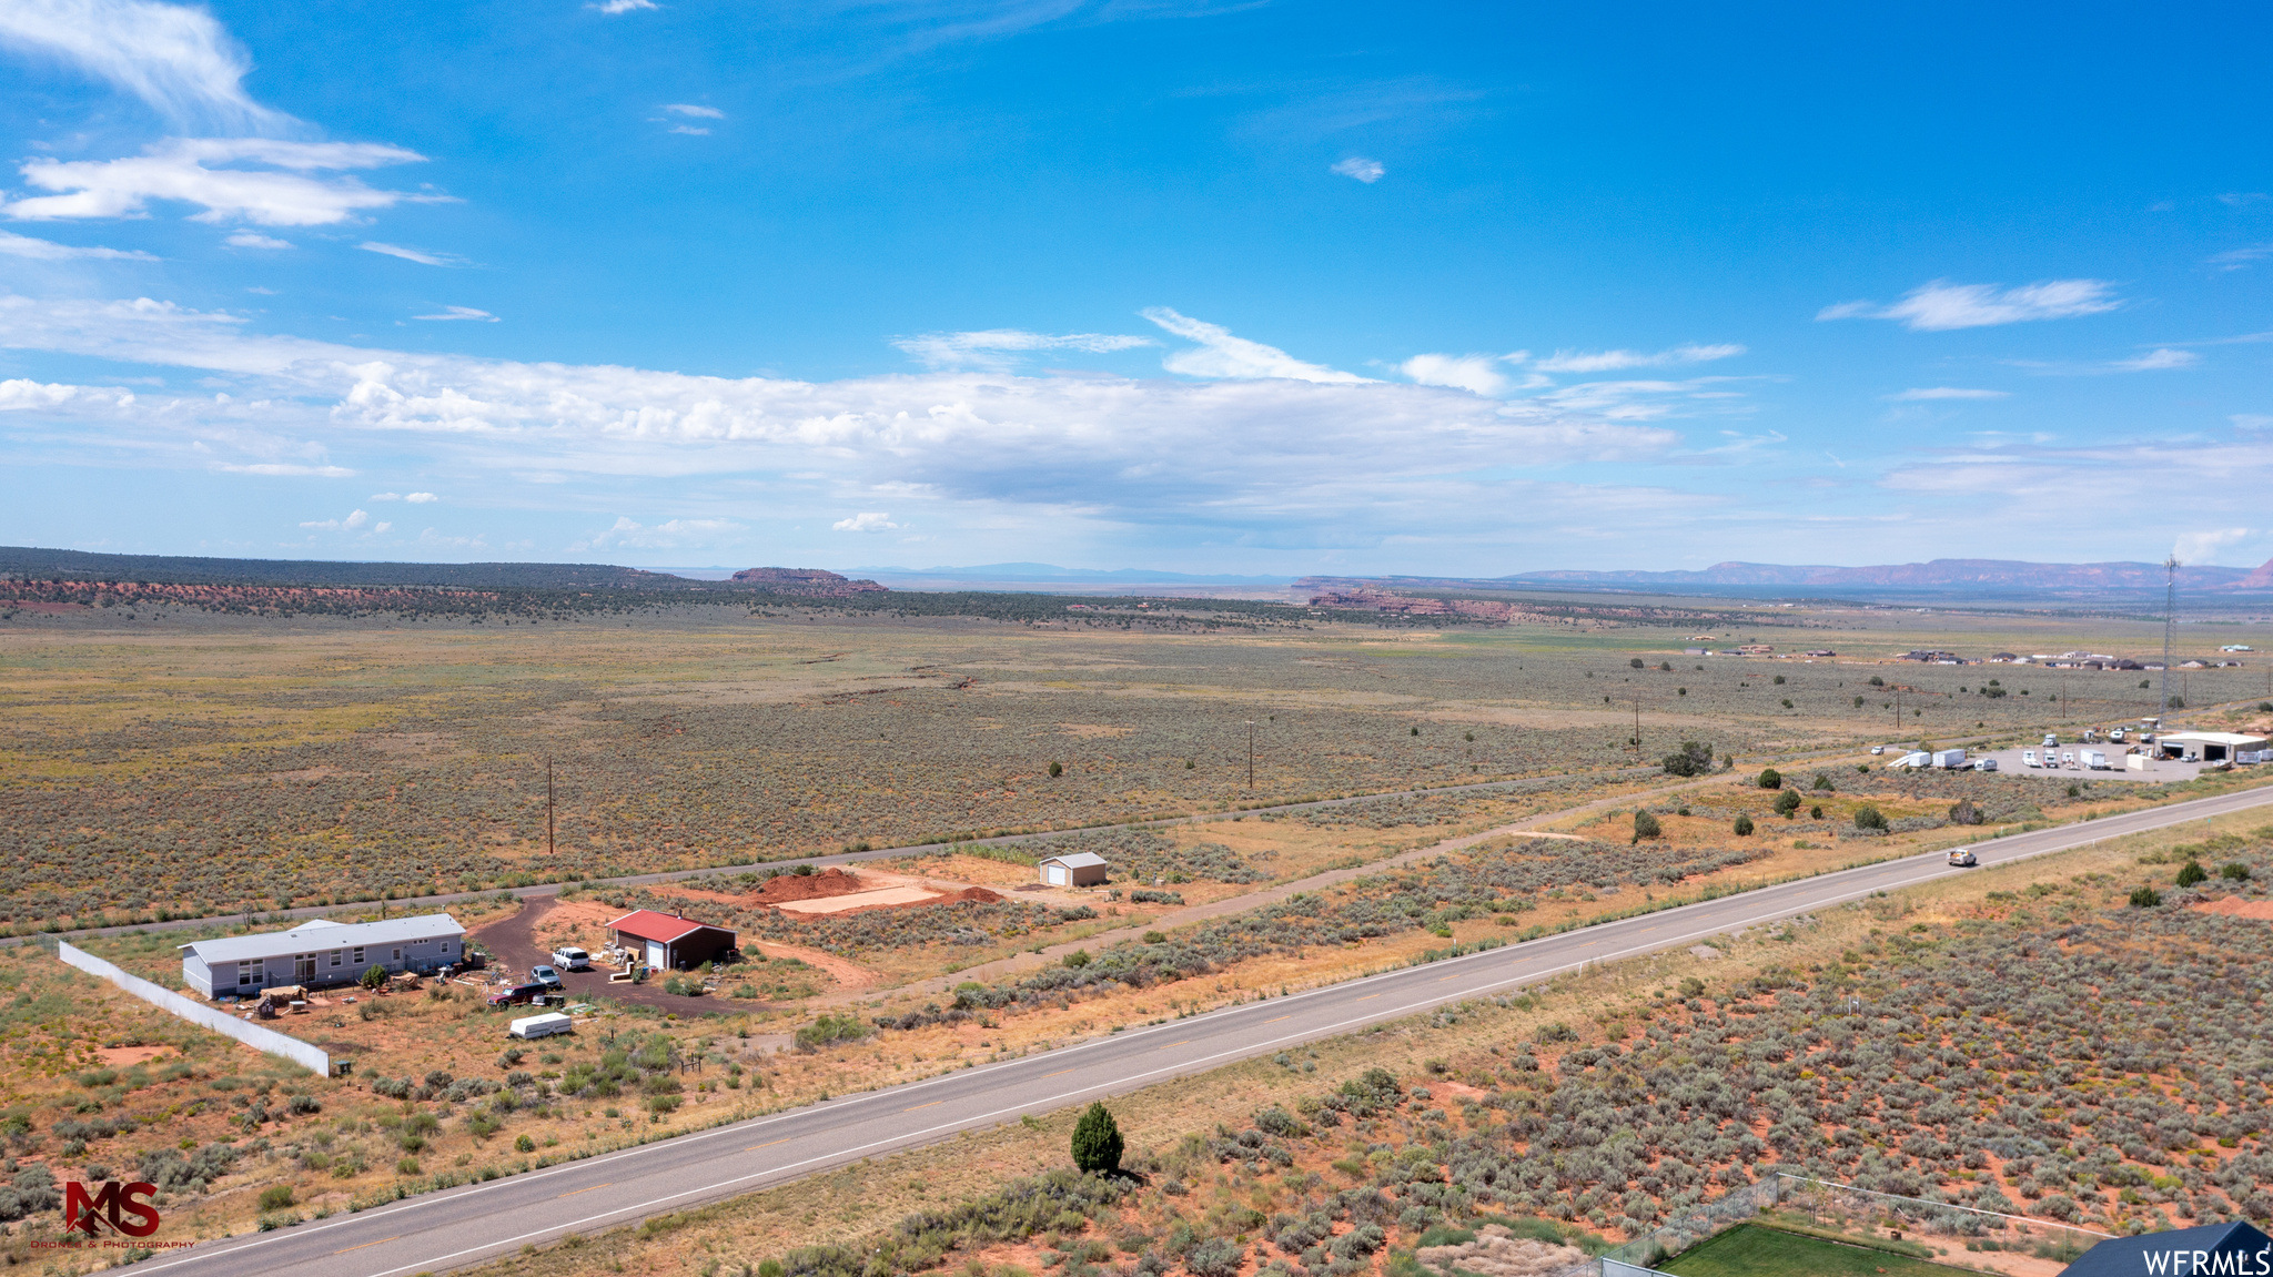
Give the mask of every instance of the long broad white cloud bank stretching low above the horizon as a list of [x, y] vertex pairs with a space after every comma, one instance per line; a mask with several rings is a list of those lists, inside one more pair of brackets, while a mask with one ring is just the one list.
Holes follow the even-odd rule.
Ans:
[[[1364, 541], [1384, 527], [1437, 536], [1443, 509], [1509, 491], [1448, 475], [1666, 459], [1682, 439], [1648, 418], [1730, 411], [1734, 402], [1721, 379], [1605, 382], [1487, 400], [1330, 370], [1314, 373], [1334, 379], [1273, 377], [1289, 361], [1282, 352], [1241, 366], [1262, 375], [1196, 382], [984, 370], [839, 382], [696, 377], [375, 350], [248, 332], [239, 316], [157, 300], [7, 293], [0, 348], [198, 368], [241, 386], [230, 404], [184, 395], [148, 418], [105, 423], [109, 439], [143, 432], [164, 441], [243, 420], [277, 439], [359, 452], [384, 436], [398, 457], [466, 482], [525, 475], [621, 491], [643, 479], [739, 475], [775, 493], [768, 509], [793, 511], [802, 500], [818, 527], [846, 518], [841, 509], [821, 514], [846, 502], [830, 493], [859, 491], [877, 495], [855, 511], [882, 504], [900, 525], [918, 507], [961, 504], [991, 527], [1059, 534], [1141, 523], [1180, 536], [1209, 527], [1225, 539]], [[277, 450], [245, 461], [293, 466], [255, 473], [350, 473]], [[1557, 509], [1580, 518], [1582, 507], [1573, 498]], [[689, 536], [689, 527], [655, 534]]]

